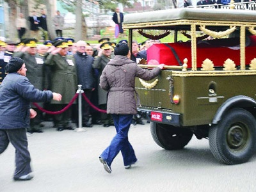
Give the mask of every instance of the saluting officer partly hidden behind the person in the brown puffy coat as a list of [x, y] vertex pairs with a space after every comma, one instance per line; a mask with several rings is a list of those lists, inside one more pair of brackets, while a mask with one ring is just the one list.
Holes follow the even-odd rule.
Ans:
[[[108, 62], [113, 58], [112, 54], [112, 46], [111, 43], [109, 42], [104, 42], [103, 44], [100, 45], [100, 51], [98, 52], [98, 55], [95, 56], [95, 60], [93, 62], [93, 68], [96, 68], [99, 70], [99, 76], [98, 76], [98, 95], [99, 95], [99, 108], [100, 109], [107, 109], [107, 94], [108, 92], [102, 90], [102, 88], [99, 87], [99, 77], [102, 74], [102, 70]], [[104, 127], [109, 127], [110, 125], [113, 124], [113, 119], [111, 115], [101, 113], [101, 121], [103, 123]]]

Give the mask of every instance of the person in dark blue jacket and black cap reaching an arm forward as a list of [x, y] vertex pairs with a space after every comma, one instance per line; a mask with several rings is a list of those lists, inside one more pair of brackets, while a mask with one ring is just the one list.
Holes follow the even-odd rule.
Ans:
[[36, 112], [30, 109], [30, 102], [61, 100], [59, 93], [36, 89], [26, 77], [26, 71], [22, 59], [12, 58], [6, 65], [9, 74], [0, 85], [0, 154], [9, 143], [15, 147], [14, 180], [33, 178], [26, 128], [29, 127], [29, 116], [34, 118]]

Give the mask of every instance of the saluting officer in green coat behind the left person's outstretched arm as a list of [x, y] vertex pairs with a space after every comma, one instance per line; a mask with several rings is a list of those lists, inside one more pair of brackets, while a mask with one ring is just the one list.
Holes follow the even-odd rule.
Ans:
[[[28, 38], [24, 42], [24, 49], [20, 52], [15, 52], [15, 56], [21, 58], [26, 63], [27, 77], [31, 84], [38, 90], [45, 90], [45, 70], [44, 70], [44, 55], [36, 54], [36, 42], [35, 38]], [[42, 103], [40, 104], [42, 106]], [[29, 133], [43, 132], [42, 131], [42, 111], [31, 104], [31, 108], [37, 113], [37, 116], [30, 121]]]

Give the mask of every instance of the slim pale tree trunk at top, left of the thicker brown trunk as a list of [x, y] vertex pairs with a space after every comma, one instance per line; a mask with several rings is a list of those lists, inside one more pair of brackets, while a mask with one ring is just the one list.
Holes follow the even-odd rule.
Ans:
[[46, 6], [46, 15], [47, 15], [47, 29], [48, 29], [48, 38], [49, 40], [54, 40], [57, 36], [54, 30], [53, 22], [52, 22], [52, 1], [46, 0], [45, 1], [45, 6]]

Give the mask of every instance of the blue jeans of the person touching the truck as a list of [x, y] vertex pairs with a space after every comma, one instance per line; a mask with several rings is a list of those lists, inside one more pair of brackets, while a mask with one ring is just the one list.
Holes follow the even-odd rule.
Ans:
[[132, 122], [132, 115], [115, 115], [113, 120], [116, 127], [116, 135], [111, 141], [109, 147], [100, 155], [109, 166], [121, 150], [124, 166], [132, 164], [137, 161], [131, 143], [128, 140], [128, 131]]

